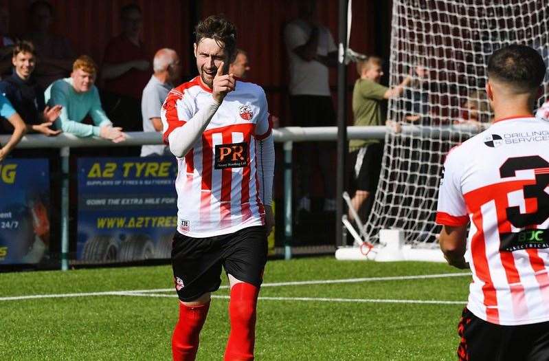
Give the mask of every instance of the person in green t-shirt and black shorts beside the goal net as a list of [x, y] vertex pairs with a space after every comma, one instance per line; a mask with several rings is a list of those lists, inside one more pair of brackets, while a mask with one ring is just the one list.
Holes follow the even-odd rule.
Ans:
[[[352, 91], [352, 113], [355, 116], [355, 125], [370, 126], [385, 124], [385, 114], [381, 111], [381, 101], [400, 96], [404, 88], [412, 81], [412, 76], [407, 76], [402, 83], [393, 88], [379, 84], [383, 69], [379, 56], [369, 56], [364, 61], [357, 63], [357, 72], [360, 78], [355, 83]], [[423, 78], [423, 67], [416, 68], [416, 74]], [[377, 139], [357, 139], [349, 142], [349, 151], [355, 180], [355, 195], [351, 204], [357, 212], [370, 197], [370, 193], [377, 188], [379, 172], [381, 171], [381, 158], [383, 157], [383, 142]], [[366, 210], [363, 210], [366, 212]], [[360, 214], [360, 212], [359, 212]], [[352, 215], [349, 215], [352, 219]]]

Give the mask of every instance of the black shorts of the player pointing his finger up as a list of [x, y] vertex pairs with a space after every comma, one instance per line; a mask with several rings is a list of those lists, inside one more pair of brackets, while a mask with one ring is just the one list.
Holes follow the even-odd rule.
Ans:
[[192, 238], [175, 232], [172, 268], [177, 295], [196, 300], [221, 285], [221, 266], [236, 279], [260, 287], [267, 263], [265, 226], [243, 228], [221, 236]]

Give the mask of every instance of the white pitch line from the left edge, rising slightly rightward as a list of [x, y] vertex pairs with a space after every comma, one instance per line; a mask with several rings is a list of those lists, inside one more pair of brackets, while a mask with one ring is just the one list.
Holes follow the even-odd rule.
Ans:
[[[470, 276], [469, 272], [462, 273], [442, 273], [442, 274], [420, 274], [416, 276], [387, 276], [387, 277], [364, 277], [364, 278], [343, 278], [333, 280], [314, 280], [314, 281], [291, 281], [291, 282], [276, 282], [276, 283], [263, 283], [261, 287], [281, 287], [281, 286], [295, 286], [295, 285], [326, 285], [334, 283], [358, 283], [358, 282], [374, 282], [374, 281], [405, 281], [414, 279], [427, 279], [427, 278], [446, 278], [446, 277], [460, 277]], [[227, 289], [227, 285], [223, 285], [220, 289]], [[130, 294], [146, 294], [155, 292], [173, 292], [172, 288], [160, 288], [160, 289], [128, 289], [120, 291], [107, 291], [107, 292], [82, 292], [74, 294], [34, 294], [27, 296], [8, 296], [0, 297], [0, 301], [5, 300], [29, 300], [36, 298], [63, 298], [63, 297], [87, 297], [87, 296], [128, 296]]]

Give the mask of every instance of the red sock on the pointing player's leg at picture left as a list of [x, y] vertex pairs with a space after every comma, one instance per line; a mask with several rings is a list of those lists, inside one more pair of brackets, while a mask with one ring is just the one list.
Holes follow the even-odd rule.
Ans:
[[179, 320], [172, 336], [174, 361], [193, 361], [199, 348], [200, 330], [204, 325], [210, 302], [188, 307], [179, 303]]

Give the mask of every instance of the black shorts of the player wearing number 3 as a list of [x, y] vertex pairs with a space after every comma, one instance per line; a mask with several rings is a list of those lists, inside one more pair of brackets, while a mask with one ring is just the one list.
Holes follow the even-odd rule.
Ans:
[[502, 326], [473, 315], [467, 307], [458, 325], [458, 359], [468, 361], [549, 360], [549, 322]]

